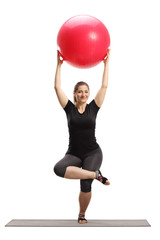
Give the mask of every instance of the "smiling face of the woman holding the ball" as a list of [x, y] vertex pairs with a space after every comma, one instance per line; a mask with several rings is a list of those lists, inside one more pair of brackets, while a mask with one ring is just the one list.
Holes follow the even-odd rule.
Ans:
[[78, 103], [85, 103], [89, 98], [88, 87], [86, 85], [79, 86], [76, 92], [74, 92], [74, 96]]

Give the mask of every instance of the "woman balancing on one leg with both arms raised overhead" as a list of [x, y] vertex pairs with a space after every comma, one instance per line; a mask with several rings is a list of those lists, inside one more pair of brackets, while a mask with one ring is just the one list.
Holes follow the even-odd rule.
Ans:
[[57, 51], [57, 69], [55, 74], [55, 91], [60, 105], [66, 112], [69, 128], [69, 148], [54, 166], [56, 175], [68, 179], [80, 179], [79, 223], [87, 223], [85, 212], [91, 199], [91, 184], [94, 179], [109, 185], [107, 178], [100, 172], [102, 150], [95, 138], [96, 116], [102, 106], [108, 87], [108, 61], [110, 51], [104, 60], [102, 85], [95, 98], [87, 104], [89, 86], [78, 82], [74, 88], [74, 104], [67, 98], [61, 88], [61, 65], [63, 60]]

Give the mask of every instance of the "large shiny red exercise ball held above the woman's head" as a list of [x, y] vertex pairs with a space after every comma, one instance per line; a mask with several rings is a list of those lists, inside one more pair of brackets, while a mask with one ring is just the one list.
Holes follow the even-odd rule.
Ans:
[[57, 45], [63, 60], [78, 68], [90, 68], [104, 60], [110, 36], [97, 18], [77, 15], [61, 26]]

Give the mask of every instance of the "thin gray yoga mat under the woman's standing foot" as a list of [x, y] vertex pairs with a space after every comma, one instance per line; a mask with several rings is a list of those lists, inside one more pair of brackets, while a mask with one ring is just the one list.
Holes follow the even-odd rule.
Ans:
[[5, 227], [150, 227], [145, 219], [105, 220], [88, 219], [88, 223], [79, 224], [71, 219], [13, 219]]

